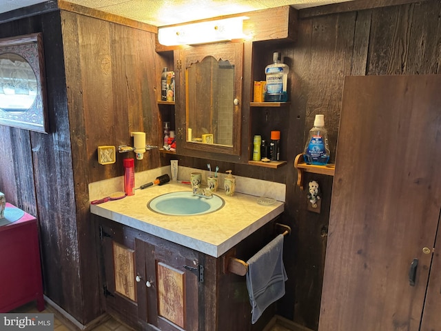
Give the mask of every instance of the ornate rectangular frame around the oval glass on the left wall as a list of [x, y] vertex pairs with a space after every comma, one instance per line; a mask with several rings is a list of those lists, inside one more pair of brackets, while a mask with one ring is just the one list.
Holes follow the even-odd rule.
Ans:
[[48, 133], [43, 34], [0, 39], [0, 55], [12, 53], [28, 61], [37, 78], [37, 96], [25, 112], [10, 114], [0, 109], [0, 125]]

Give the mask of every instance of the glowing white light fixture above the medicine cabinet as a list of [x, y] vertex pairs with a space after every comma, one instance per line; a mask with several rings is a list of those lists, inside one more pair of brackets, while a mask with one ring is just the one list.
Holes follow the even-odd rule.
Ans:
[[243, 20], [247, 17], [232, 17], [170, 26], [158, 29], [158, 41], [164, 46], [195, 45], [232, 39], [243, 39]]

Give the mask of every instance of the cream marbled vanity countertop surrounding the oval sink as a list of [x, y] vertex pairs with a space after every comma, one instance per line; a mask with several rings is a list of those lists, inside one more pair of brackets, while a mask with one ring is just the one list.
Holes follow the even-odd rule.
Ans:
[[90, 212], [212, 257], [220, 257], [285, 209], [285, 204], [280, 201], [274, 205], [259, 205], [256, 202], [258, 197], [240, 193], [227, 197], [223, 190], [216, 194], [225, 200], [224, 207], [209, 214], [168, 216], [147, 208], [150, 199], [177, 191], [191, 191], [191, 188], [173, 182], [152, 186], [136, 190], [131, 197], [90, 205]]

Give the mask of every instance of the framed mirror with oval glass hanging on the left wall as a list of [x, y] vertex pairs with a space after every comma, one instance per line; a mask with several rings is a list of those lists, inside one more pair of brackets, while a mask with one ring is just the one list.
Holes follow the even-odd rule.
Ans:
[[0, 39], [0, 125], [48, 132], [41, 33]]

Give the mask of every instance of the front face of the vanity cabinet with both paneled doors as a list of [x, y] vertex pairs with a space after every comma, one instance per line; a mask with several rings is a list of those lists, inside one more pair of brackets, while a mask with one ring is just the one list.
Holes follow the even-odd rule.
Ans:
[[198, 330], [198, 254], [112, 221], [99, 230], [107, 311], [134, 328]]

